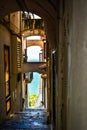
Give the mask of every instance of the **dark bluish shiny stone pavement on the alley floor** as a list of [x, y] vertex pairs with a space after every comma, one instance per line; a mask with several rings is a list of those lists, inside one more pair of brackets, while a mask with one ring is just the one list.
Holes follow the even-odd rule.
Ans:
[[48, 113], [44, 109], [26, 109], [23, 112], [11, 114], [0, 130], [51, 130], [47, 123]]

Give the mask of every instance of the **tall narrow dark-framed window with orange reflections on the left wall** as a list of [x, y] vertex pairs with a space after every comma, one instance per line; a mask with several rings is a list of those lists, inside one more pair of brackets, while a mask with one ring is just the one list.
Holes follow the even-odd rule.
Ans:
[[11, 108], [10, 96], [10, 55], [9, 47], [4, 46], [4, 73], [5, 73], [5, 95], [6, 95], [6, 112], [8, 113]]

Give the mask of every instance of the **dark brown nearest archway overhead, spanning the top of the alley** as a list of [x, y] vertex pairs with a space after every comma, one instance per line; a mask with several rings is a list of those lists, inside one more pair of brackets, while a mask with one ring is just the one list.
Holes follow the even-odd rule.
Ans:
[[[27, 1], [27, 0], [14, 0], [8, 1], [5, 4], [5, 0], [0, 4], [0, 19], [15, 11], [27, 11], [32, 12], [44, 19], [46, 25], [46, 33], [50, 46], [55, 48], [56, 44], [56, 7], [54, 3], [49, 1]], [[4, 11], [3, 11], [4, 10]], [[50, 11], [51, 10], [51, 11]], [[54, 33], [52, 33], [54, 32]]]

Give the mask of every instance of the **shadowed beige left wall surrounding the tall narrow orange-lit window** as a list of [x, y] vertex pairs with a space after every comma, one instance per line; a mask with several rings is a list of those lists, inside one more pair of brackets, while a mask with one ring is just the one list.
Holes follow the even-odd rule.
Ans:
[[[17, 81], [17, 73], [13, 73], [12, 59], [14, 58], [11, 48], [11, 34], [2, 25], [0, 25], [0, 123], [12, 112], [21, 109], [21, 81]], [[6, 114], [6, 97], [4, 85], [4, 45], [10, 47], [10, 90], [11, 90], [11, 111]], [[16, 55], [16, 52], [15, 52]]]

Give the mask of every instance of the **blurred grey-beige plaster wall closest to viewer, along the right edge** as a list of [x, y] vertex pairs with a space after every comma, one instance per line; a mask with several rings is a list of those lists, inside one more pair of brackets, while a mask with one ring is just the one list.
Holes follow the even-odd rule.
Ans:
[[87, 1], [73, 0], [71, 8], [67, 129], [87, 130]]

